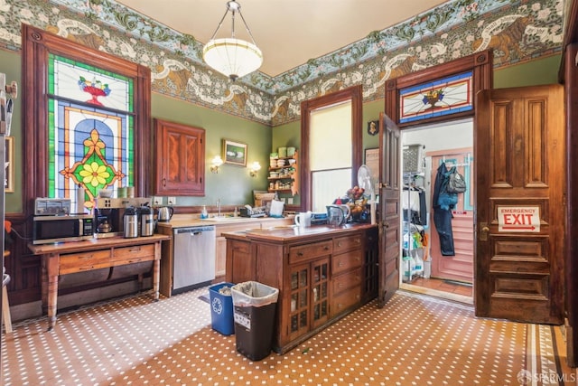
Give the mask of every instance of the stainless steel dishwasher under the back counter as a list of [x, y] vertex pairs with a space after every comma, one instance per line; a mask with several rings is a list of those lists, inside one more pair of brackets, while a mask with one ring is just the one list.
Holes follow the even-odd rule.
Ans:
[[172, 295], [202, 287], [215, 278], [214, 225], [172, 230]]

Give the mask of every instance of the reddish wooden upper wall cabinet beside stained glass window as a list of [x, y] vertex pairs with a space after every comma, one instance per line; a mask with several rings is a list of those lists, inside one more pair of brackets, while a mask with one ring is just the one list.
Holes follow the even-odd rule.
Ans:
[[154, 119], [153, 194], [205, 195], [205, 130]]

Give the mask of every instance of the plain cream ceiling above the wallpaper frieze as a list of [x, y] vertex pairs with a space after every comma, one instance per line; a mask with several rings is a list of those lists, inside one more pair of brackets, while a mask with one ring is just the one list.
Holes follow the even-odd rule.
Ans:
[[[445, 0], [238, 0], [241, 14], [263, 52], [259, 71], [275, 77], [310, 59], [357, 42], [373, 31], [411, 19]], [[117, 0], [180, 33], [206, 43], [227, 9], [227, 0]], [[249, 40], [239, 17], [238, 38]], [[227, 16], [216, 37], [228, 37]]]

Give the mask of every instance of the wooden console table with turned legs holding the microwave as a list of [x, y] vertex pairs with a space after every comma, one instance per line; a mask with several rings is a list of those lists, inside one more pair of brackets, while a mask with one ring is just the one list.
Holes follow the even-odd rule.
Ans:
[[48, 331], [56, 324], [58, 279], [61, 275], [154, 261], [152, 294], [158, 300], [161, 243], [170, 239], [170, 236], [155, 234], [134, 239], [114, 237], [59, 244], [28, 244], [34, 255], [42, 255], [42, 310], [48, 314]]

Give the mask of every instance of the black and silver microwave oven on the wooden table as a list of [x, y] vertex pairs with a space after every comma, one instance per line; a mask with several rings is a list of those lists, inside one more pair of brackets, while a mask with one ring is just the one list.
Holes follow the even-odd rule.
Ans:
[[90, 240], [94, 231], [94, 218], [89, 214], [33, 218], [33, 244]]

